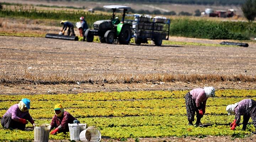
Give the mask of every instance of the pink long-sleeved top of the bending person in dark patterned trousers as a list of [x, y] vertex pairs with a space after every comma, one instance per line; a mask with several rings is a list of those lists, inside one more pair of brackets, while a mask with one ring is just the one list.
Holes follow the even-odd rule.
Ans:
[[[203, 103], [203, 106], [206, 106], [207, 97], [202, 88], [196, 88], [190, 91], [193, 100], [196, 102], [196, 107], [200, 107], [200, 104]], [[201, 106], [202, 107], [202, 106]]]

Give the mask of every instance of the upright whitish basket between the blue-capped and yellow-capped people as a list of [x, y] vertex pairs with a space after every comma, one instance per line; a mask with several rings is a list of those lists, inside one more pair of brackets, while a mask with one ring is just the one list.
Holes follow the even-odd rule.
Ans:
[[50, 127], [50, 124], [34, 126], [34, 142], [48, 142]]

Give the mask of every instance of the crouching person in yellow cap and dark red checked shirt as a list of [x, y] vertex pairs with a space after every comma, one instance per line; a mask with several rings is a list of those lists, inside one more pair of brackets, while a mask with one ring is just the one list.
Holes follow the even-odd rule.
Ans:
[[56, 104], [54, 106], [55, 115], [52, 118], [51, 130], [55, 128], [51, 135], [54, 135], [57, 132], [69, 132], [68, 124], [79, 124], [80, 122], [75, 119], [70, 113], [65, 111], [61, 104]]

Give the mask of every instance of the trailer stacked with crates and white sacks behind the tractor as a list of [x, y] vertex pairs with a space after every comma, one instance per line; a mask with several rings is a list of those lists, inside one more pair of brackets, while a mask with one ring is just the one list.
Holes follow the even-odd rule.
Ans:
[[148, 43], [153, 40], [156, 46], [162, 45], [162, 40], [169, 39], [170, 19], [166, 17], [149, 15], [130, 15], [134, 16], [132, 21], [132, 37], [136, 44]]

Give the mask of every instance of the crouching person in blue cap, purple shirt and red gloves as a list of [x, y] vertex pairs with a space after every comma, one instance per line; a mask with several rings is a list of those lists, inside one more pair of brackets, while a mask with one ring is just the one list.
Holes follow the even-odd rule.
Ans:
[[34, 125], [34, 120], [30, 116], [30, 100], [22, 99], [18, 104], [12, 105], [1, 119], [1, 125], [5, 129], [25, 130], [27, 120]]

